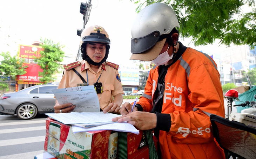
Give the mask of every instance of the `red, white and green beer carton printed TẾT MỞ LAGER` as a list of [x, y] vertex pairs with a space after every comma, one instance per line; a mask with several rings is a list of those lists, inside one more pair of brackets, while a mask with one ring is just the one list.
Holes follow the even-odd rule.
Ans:
[[60, 159], [108, 158], [111, 130], [73, 133], [72, 126], [46, 119], [44, 149]]

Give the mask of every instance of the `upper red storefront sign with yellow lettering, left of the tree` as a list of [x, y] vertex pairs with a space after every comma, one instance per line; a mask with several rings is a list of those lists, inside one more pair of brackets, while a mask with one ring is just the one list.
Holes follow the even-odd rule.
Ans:
[[41, 46], [34, 46], [34, 45], [19, 45], [19, 53], [18, 57], [26, 58], [26, 59], [34, 59], [35, 57], [40, 57], [40, 51], [43, 50]]

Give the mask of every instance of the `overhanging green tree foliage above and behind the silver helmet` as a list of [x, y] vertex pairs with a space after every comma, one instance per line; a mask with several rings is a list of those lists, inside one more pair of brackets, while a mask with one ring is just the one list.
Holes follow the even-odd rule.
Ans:
[[[220, 44], [256, 45], [255, 0], [130, 0], [138, 7], [162, 2], [173, 8], [182, 38], [192, 38], [195, 46]], [[243, 10], [241, 7], [249, 9]]]

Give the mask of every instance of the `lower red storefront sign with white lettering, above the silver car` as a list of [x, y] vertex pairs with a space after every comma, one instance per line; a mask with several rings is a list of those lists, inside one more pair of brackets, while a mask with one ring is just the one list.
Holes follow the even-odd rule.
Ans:
[[38, 64], [35, 63], [23, 63], [24, 66], [28, 66], [26, 69], [27, 73], [24, 75], [18, 75], [16, 76], [16, 81], [24, 81], [24, 82], [31, 82], [29, 84], [32, 84], [33, 82], [40, 82], [38, 73], [42, 72], [43, 69], [40, 68]]

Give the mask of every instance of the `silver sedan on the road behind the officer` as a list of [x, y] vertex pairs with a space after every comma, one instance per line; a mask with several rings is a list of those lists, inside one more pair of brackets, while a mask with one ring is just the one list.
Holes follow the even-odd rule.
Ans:
[[19, 119], [33, 119], [38, 114], [53, 113], [55, 98], [52, 92], [58, 84], [34, 85], [18, 92], [3, 93], [0, 98], [1, 115], [17, 115]]

